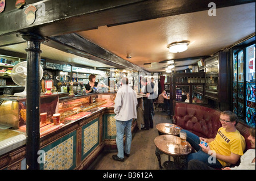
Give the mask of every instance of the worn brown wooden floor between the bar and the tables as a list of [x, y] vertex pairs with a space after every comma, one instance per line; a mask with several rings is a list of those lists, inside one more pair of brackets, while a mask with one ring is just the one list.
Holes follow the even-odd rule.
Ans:
[[[114, 161], [113, 154], [117, 150], [103, 151], [94, 163], [88, 168], [90, 170], [159, 170], [158, 159], [155, 155], [154, 139], [158, 136], [155, 128], [158, 123], [171, 123], [170, 116], [162, 111], [155, 111], [153, 117], [154, 128], [149, 130], [137, 129], [131, 142], [130, 157], [125, 157], [124, 162]], [[168, 156], [161, 155], [162, 163], [167, 161]]]

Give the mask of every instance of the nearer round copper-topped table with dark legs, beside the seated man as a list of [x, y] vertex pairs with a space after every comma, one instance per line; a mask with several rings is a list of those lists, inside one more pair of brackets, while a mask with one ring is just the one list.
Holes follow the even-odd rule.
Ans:
[[[192, 146], [187, 142], [187, 145], [182, 146], [180, 137], [170, 134], [163, 134], [154, 140], [156, 150], [155, 154], [158, 158], [159, 169], [163, 169], [161, 164], [160, 154], [167, 154], [169, 160], [164, 163], [167, 169], [183, 169], [185, 166], [186, 156], [191, 153]], [[170, 156], [174, 157], [174, 162], [170, 161]]]

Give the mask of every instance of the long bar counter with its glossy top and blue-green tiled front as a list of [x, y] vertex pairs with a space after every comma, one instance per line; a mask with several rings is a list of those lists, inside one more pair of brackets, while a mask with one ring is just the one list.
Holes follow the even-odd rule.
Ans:
[[[138, 99], [142, 97], [137, 95]], [[114, 99], [115, 93], [75, 97], [67, 97], [67, 94], [42, 95], [40, 112], [51, 113], [47, 116], [47, 123], [43, 123], [46, 125], [40, 123], [40, 169], [86, 169], [102, 150], [116, 149]], [[2, 98], [1, 101], [3, 100], [5, 99]], [[51, 104], [48, 100], [51, 100]], [[26, 120], [21, 119], [21, 113], [24, 112], [22, 106], [26, 105], [24, 102], [26, 99], [19, 99], [13, 100], [11, 104], [14, 110], [19, 109], [19, 113], [11, 110], [12, 113], [15, 112], [12, 116], [19, 117], [19, 123], [0, 127], [0, 170], [26, 169]], [[5, 102], [1, 104], [3, 107]], [[10, 116], [6, 111], [7, 107], [1, 112], [1, 106], [2, 119]], [[55, 111], [62, 115], [59, 125], [52, 123]], [[68, 116], [65, 116], [67, 112]], [[0, 120], [2, 125], [3, 122], [4, 120], [2, 123]], [[137, 123], [133, 120], [132, 132], [136, 128]], [[125, 140], [125, 136], [123, 139]]]

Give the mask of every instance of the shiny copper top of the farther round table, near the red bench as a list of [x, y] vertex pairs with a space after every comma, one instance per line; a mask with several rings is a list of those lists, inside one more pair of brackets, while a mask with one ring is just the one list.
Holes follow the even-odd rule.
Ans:
[[170, 123], [159, 123], [156, 125], [156, 129], [158, 130], [159, 135], [160, 134], [171, 134], [171, 135], [179, 135], [180, 128], [176, 124], [170, 124]]

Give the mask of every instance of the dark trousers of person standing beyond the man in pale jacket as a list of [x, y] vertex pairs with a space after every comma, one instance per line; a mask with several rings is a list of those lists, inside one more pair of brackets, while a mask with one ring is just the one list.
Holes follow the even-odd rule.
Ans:
[[153, 104], [152, 99], [143, 99], [144, 123], [145, 123], [146, 129], [154, 127], [153, 118], [152, 118], [152, 104]]

